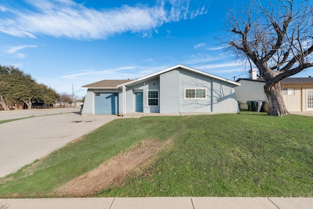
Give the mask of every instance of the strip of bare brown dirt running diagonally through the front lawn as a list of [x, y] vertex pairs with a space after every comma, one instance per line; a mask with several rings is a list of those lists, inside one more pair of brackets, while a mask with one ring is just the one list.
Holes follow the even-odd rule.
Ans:
[[138, 165], [154, 160], [157, 152], [171, 143], [171, 139], [165, 142], [144, 140], [89, 173], [71, 180], [66, 186], [60, 188], [56, 194], [59, 197], [86, 197], [110, 185], [118, 184]]

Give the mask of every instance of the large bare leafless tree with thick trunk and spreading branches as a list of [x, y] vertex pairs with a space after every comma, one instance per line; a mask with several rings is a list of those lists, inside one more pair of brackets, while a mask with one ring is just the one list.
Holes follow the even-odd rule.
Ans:
[[[252, 0], [249, 5], [229, 9], [225, 19], [226, 50], [236, 60], [255, 65], [266, 84], [269, 114], [288, 114], [280, 81], [313, 67], [313, 5], [293, 0], [270, 0], [267, 5]], [[227, 40], [227, 41], [226, 41]]]

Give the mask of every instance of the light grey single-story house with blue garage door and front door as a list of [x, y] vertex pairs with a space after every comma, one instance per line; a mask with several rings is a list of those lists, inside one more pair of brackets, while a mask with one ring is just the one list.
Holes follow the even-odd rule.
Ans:
[[88, 84], [82, 115], [139, 113], [239, 113], [240, 84], [183, 65], [135, 80]]

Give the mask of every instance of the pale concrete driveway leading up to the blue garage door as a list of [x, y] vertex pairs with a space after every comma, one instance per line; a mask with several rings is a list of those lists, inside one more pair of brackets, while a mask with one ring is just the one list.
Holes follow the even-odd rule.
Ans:
[[[29, 115], [27, 111], [25, 114]], [[0, 124], [0, 177], [16, 172], [22, 166], [119, 118], [76, 113], [44, 115]]]

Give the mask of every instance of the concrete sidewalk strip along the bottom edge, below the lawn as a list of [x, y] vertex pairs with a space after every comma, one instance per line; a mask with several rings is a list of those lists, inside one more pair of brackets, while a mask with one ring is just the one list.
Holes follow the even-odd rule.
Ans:
[[0, 209], [312, 209], [313, 198], [112, 197], [0, 199]]

